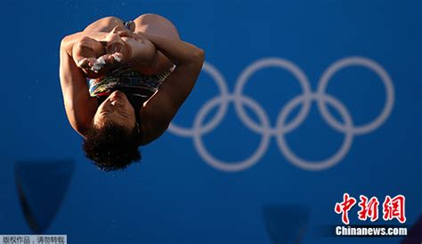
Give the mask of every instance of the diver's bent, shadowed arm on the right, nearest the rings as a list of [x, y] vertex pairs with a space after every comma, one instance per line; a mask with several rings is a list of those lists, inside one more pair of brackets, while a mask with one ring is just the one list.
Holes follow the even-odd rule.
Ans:
[[161, 136], [189, 96], [204, 62], [204, 51], [191, 43], [145, 35], [177, 67], [141, 109], [142, 144]]

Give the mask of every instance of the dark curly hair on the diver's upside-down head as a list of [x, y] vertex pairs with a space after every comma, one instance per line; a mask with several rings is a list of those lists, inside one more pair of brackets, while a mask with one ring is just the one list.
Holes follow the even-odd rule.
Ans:
[[123, 126], [106, 122], [101, 128], [91, 125], [82, 147], [85, 156], [99, 169], [126, 169], [133, 161], [141, 160], [138, 136], [136, 126], [129, 131]]

